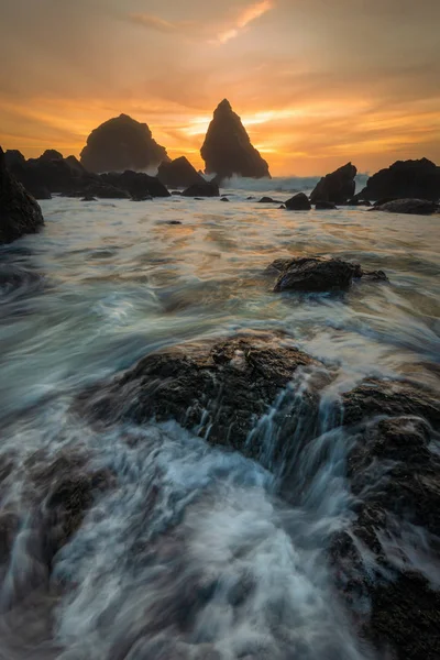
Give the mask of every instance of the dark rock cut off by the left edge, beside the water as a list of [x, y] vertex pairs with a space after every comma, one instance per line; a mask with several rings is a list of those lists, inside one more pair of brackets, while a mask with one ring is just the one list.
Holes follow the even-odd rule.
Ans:
[[7, 169], [0, 147], [0, 244], [35, 233], [44, 224], [38, 204]]

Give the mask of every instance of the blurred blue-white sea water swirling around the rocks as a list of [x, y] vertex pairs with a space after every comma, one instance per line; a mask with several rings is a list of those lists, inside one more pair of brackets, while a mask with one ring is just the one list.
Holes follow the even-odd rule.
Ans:
[[[438, 218], [257, 204], [305, 189], [299, 179], [228, 186], [229, 204], [54, 198], [41, 234], [0, 248], [1, 272], [16, 274], [11, 286], [0, 272], [0, 497], [18, 519], [0, 575], [0, 658], [382, 658], [329, 566], [329, 539], [353, 516], [339, 395], [365, 376], [439, 386]], [[275, 295], [265, 268], [289, 254], [353, 260], [391, 283]], [[249, 447], [264, 440], [257, 461], [175, 421], [102, 429], [72, 411], [87, 385], [153, 350], [246, 329], [287, 332], [334, 374], [316, 438], [298, 424], [293, 451], [277, 447], [273, 419], [286, 397], [299, 419], [319, 367], [298, 370], [249, 435]], [[45, 506], [31, 503], [64, 457], [111, 485], [48, 576], [35, 531]], [[382, 546], [438, 585], [433, 542], [408, 524]]]

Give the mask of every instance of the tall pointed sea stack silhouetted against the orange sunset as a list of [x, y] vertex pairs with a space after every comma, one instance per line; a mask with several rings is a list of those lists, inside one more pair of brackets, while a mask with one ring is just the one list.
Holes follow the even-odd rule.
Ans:
[[271, 177], [268, 165], [251, 144], [240, 117], [224, 99], [219, 103], [200, 150], [206, 174], [220, 179], [234, 174], [252, 178]]

